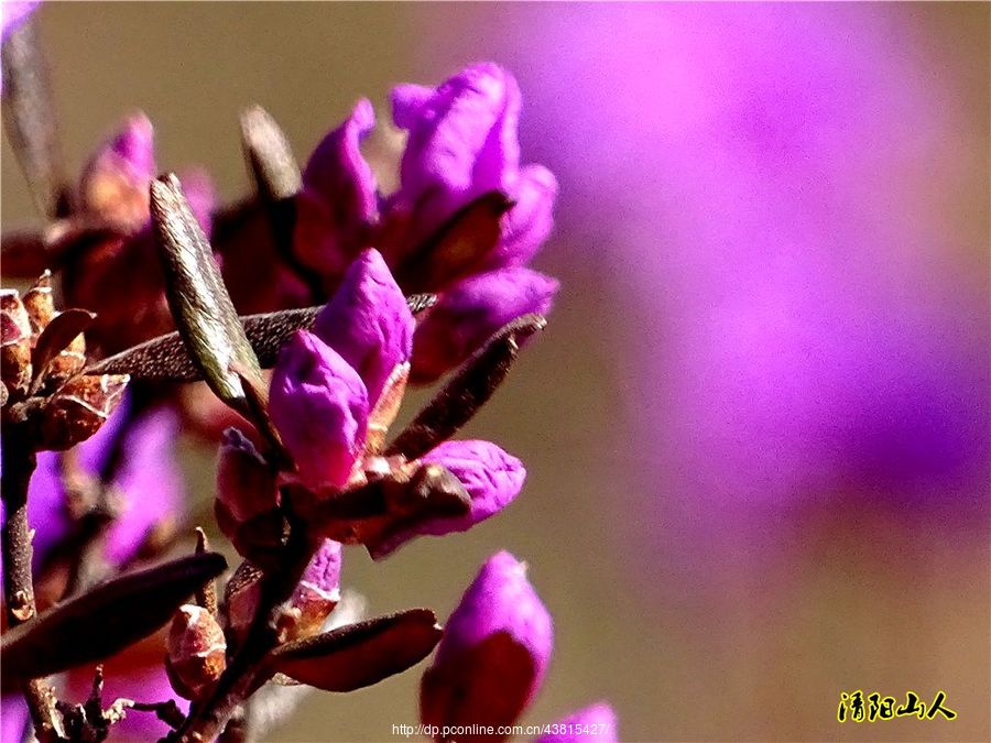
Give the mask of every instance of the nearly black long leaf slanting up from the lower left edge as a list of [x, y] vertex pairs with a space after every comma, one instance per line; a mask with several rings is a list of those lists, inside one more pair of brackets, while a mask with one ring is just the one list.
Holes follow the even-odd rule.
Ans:
[[164, 625], [206, 580], [227, 568], [217, 553], [121, 576], [56, 604], [0, 641], [3, 686], [109, 657]]

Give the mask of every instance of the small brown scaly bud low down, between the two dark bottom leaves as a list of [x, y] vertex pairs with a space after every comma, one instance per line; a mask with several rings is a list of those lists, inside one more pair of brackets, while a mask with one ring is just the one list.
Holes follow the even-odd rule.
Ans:
[[203, 607], [179, 607], [166, 642], [165, 670], [172, 688], [184, 699], [198, 698], [227, 666], [224, 631]]

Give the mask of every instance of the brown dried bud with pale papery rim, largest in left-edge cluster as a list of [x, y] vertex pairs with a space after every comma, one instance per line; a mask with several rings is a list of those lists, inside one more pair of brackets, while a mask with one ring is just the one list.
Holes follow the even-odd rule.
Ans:
[[62, 385], [45, 406], [41, 448], [62, 450], [97, 433], [123, 398], [127, 374], [76, 376]]

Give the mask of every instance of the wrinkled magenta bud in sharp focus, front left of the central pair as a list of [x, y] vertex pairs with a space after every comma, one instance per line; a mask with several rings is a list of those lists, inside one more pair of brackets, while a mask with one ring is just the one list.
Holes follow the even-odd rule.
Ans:
[[368, 391], [323, 340], [297, 331], [283, 347], [269, 395], [272, 422], [311, 488], [344, 485], [364, 445]]

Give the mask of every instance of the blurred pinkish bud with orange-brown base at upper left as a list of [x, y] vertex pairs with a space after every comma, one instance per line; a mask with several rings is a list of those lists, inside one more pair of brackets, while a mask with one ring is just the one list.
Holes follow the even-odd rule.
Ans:
[[87, 163], [80, 183], [86, 208], [137, 230], [148, 221], [148, 184], [155, 174], [154, 129], [139, 112]]

